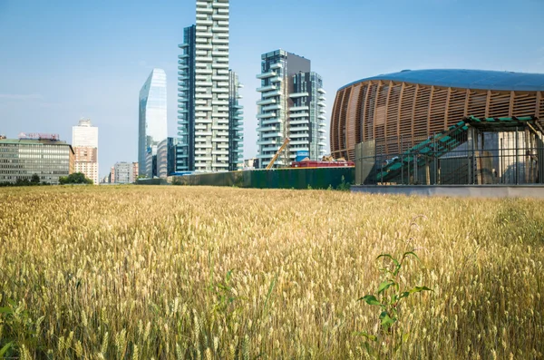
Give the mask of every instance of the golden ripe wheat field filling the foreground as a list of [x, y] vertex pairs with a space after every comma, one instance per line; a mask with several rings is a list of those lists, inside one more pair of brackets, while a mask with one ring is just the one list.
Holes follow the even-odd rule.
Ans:
[[410, 250], [401, 287], [434, 291], [406, 299], [385, 357], [543, 358], [544, 201], [125, 186], [0, 204], [0, 358], [374, 358], [358, 299], [378, 255]]

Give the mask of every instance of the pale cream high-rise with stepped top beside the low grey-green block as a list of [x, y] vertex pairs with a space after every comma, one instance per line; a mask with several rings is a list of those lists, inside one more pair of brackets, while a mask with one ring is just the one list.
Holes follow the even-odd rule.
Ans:
[[72, 147], [75, 152], [73, 163], [75, 172], [83, 172], [85, 177], [98, 184], [98, 128], [91, 120], [80, 120], [72, 127]]

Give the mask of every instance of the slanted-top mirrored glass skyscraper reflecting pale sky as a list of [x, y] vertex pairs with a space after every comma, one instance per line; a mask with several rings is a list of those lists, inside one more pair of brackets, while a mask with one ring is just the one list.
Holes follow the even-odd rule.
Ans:
[[139, 120], [138, 163], [140, 174], [145, 175], [148, 150], [168, 137], [166, 73], [162, 69], [153, 69], [141, 87]]

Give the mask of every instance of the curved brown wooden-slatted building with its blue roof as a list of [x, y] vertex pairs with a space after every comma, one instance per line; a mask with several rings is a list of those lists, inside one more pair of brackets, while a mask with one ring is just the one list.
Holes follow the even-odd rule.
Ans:
[[544, 117], [544, 74], [407, 70], [347, 84], [336, 93], [332, 155], [354, 161], [355, 144], [370, 140], [397, 153], [470, 115]]

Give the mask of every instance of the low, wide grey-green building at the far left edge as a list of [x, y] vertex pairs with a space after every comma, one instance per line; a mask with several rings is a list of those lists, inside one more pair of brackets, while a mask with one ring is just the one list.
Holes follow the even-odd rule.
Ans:
[[74, 151], [65, 141], [0, 140], [0, 182], [31, 180], [34, 174], [56, 185], [73, 173]]

